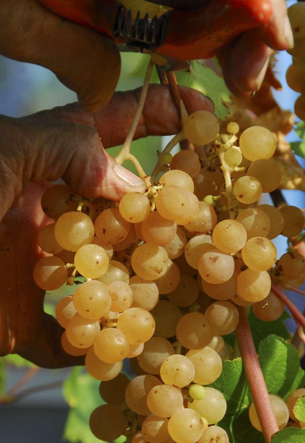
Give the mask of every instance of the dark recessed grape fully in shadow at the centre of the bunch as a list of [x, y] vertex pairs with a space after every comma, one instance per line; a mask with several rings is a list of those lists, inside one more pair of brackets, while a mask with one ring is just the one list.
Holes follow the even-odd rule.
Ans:
[[168, 300], [177, 306], [187, 307], [196, 302], [198, 294], [199, 288], [196, 280], [190, 276], [180, 276], [180, 282], [176, 289], [168, 291]]

